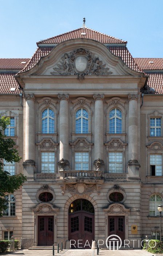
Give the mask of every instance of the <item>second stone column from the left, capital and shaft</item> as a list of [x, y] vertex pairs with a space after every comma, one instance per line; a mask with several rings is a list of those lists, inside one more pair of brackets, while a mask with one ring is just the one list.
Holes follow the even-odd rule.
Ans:
[[68, 99], [69, 94], [58, 94], [60, 99], [60, 118], [59, 118], [59, 138], [60, 138], [60, 154], [59, 159], [69, 159], [68, 144]]

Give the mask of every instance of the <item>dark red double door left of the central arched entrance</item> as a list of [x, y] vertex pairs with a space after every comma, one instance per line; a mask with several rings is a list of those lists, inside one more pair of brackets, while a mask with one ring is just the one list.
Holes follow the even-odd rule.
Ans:
[[53, 216], [38, 216], [38, 245], [53, 245]]

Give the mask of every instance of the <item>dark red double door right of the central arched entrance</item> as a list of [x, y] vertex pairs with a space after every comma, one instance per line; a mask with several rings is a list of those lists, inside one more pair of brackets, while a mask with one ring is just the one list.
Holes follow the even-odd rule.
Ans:
[[[108, 236], [117, 235], [124, 244], [124, 216], [109, 216], [108, 217]], [[117, 238], [117, 237], [115, 237]]]

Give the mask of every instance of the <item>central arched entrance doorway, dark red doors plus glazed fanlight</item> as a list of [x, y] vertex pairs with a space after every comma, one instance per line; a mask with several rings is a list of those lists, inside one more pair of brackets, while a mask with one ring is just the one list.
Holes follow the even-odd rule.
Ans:
[[[95, 239], [95, 210], [86, 199], [76, 199], [69, 206], [68, 236], [71, 248], [91, 249]], [[73, 240], [73, 241], [72, 241]]]

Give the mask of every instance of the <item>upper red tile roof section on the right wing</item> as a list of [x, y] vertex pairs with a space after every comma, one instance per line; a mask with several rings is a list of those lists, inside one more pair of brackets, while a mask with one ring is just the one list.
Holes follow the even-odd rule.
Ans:
[[143, 70], [163, 69], [163, 58], [134, 58], [134, 61]]

